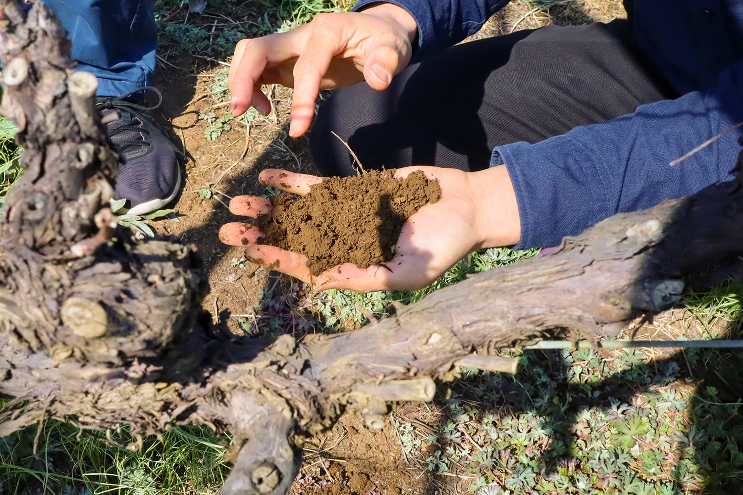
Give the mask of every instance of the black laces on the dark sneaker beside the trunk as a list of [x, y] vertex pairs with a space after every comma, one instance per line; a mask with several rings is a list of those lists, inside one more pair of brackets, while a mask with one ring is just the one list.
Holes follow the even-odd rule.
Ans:
[[[134, 94], [146, 91], [151, 91], [158, 97], [158, 102], [155, 105], [142, 105], [128, 99]], [[121, 122], [119, 124], [108, 126], [108, 137], [117, 145], [119, 152], [126, 156], [127, 151], [132, 151], [134, 147], [149, 148], [152, 146], [146, 139], [149, 131], [147, 126], [144, 125], [146, 122], [145, 114], [157, 110], [162, 103], [163, 94], [160, 93], [158, 88], [143, 86], [122, 96], [100, 99], [96, 103], [96, 108], [104, 115], [111, 111], [116, 111], [120, 115]]]

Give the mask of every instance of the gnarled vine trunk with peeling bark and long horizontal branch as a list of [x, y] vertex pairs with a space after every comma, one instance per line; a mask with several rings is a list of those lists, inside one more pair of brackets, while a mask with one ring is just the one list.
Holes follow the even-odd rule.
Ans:
[[0, 393], [15, 397], [0, 436], [44, 418], [130, 424], [136, 436], [208, 424], [235, 436], [223, 494], [285, 494], [303, 439], [345, 411], [380, 427], [389, 402], [431, 400], [458, 367], [513, 367], [489, 350], [554, 327], [594, 338], [598, 325], [668, 308], [691, 276], [743, 254], [736, 178], [611, 217], [356, 332], [224, 338], [201, 309], [207, 276], [192, 247], [117, 230], [117, 155], [65, 32], [40, 4], [0, 8], [0, 111], [25, 147], [0, 225]]

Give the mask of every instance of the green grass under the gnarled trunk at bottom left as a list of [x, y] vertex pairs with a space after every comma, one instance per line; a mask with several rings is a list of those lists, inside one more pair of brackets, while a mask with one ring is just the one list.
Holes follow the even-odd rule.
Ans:
[[[0, 405], [4, 404], [0, 401]], [[0, 494], [216, 494], [227, 476], [222, 460], [229, 438], [213, 438], [207, 427], [173, 427], [163, 441], [143, 440], [141, 452], [107, 445], [106, 434], [48, 421], [0, 438]], [[111, 436], [133, 442], [126, 428]]]

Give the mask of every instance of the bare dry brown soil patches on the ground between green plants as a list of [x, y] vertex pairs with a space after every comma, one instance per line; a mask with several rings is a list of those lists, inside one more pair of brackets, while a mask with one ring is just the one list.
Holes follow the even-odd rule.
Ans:
[[[256, 8], [252, 5], [247, 8]], [[551, 22], [608, 22], [624, 15], [621, 2], [616, 0], [565, 1], [547, 12], [514, 1], [473, 38]], [[175, 235], [198, 246], [210, 274], [211, 292], [204, 307], [215, 321], [227, 324], [233, 332], [242, 332], [232, 316], [252, 315], [244, 317], [248, 321], [259, 318], [254, 306], [267, 289], [279, 287], [297, 292], [303, 288], [282, 275], [251, 265], [243, 259], [243, 249], [225, 246], [218, 240], [219, 226], [238, 220], [227, 211], [226, 203], [239, 194], [265, 194], [257, 180], [265, 168], [302, 173], [313, 173], [316, 168], [311, 163], [307, 138], [293, 140], [287, 134], [291, 90], [267, 88], [273, 102], [270, 116], [253, 119], [250, 125], [227, 122], [230, 130], [215, 140], [207, 140], [207, 122], [198, 117], [209, 113], [221, 117], [227, 113], [227, 99], [215, 97], [215, 85], [224, 79], [224, 64], [175, 49], [161, 50], [161, 57], [157, 82], [165, 95], [161, 117], [172, 123], [172, 137], [183, 148], [187, 160], [184, 191], [172, 206], [178, 211], [178, 221], [159, 220], [153, 226], [160, 234]], [[210, 194], [204, 194], [204, 190]], [[688, 315], [679, 310], [635, 330], [638, 337], [668, 339], [700, 333]], [[426, 427], [436, 424], [442, 413], [436, 404], [400, 404], [394, 416]], [[426, 469], [424, 459], [435, 448], [428, 445], [424, 451], [406, 455], [392, 419], [387, 419], [382, 430], [369, 430], [357, 416], [346, 416], [333, 430], [308, 443], [305, 467], [294, 491], [333, 495], [466, 494], [472, 482], [467, 473], [441, 476]]]

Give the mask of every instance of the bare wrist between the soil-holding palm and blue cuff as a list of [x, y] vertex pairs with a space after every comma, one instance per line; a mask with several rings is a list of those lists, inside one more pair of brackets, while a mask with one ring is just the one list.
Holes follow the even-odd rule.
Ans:
[[519, 243], [519, 205], [505, 165], [470, 172], [468, 178], [476, 202], [477, 249]]

